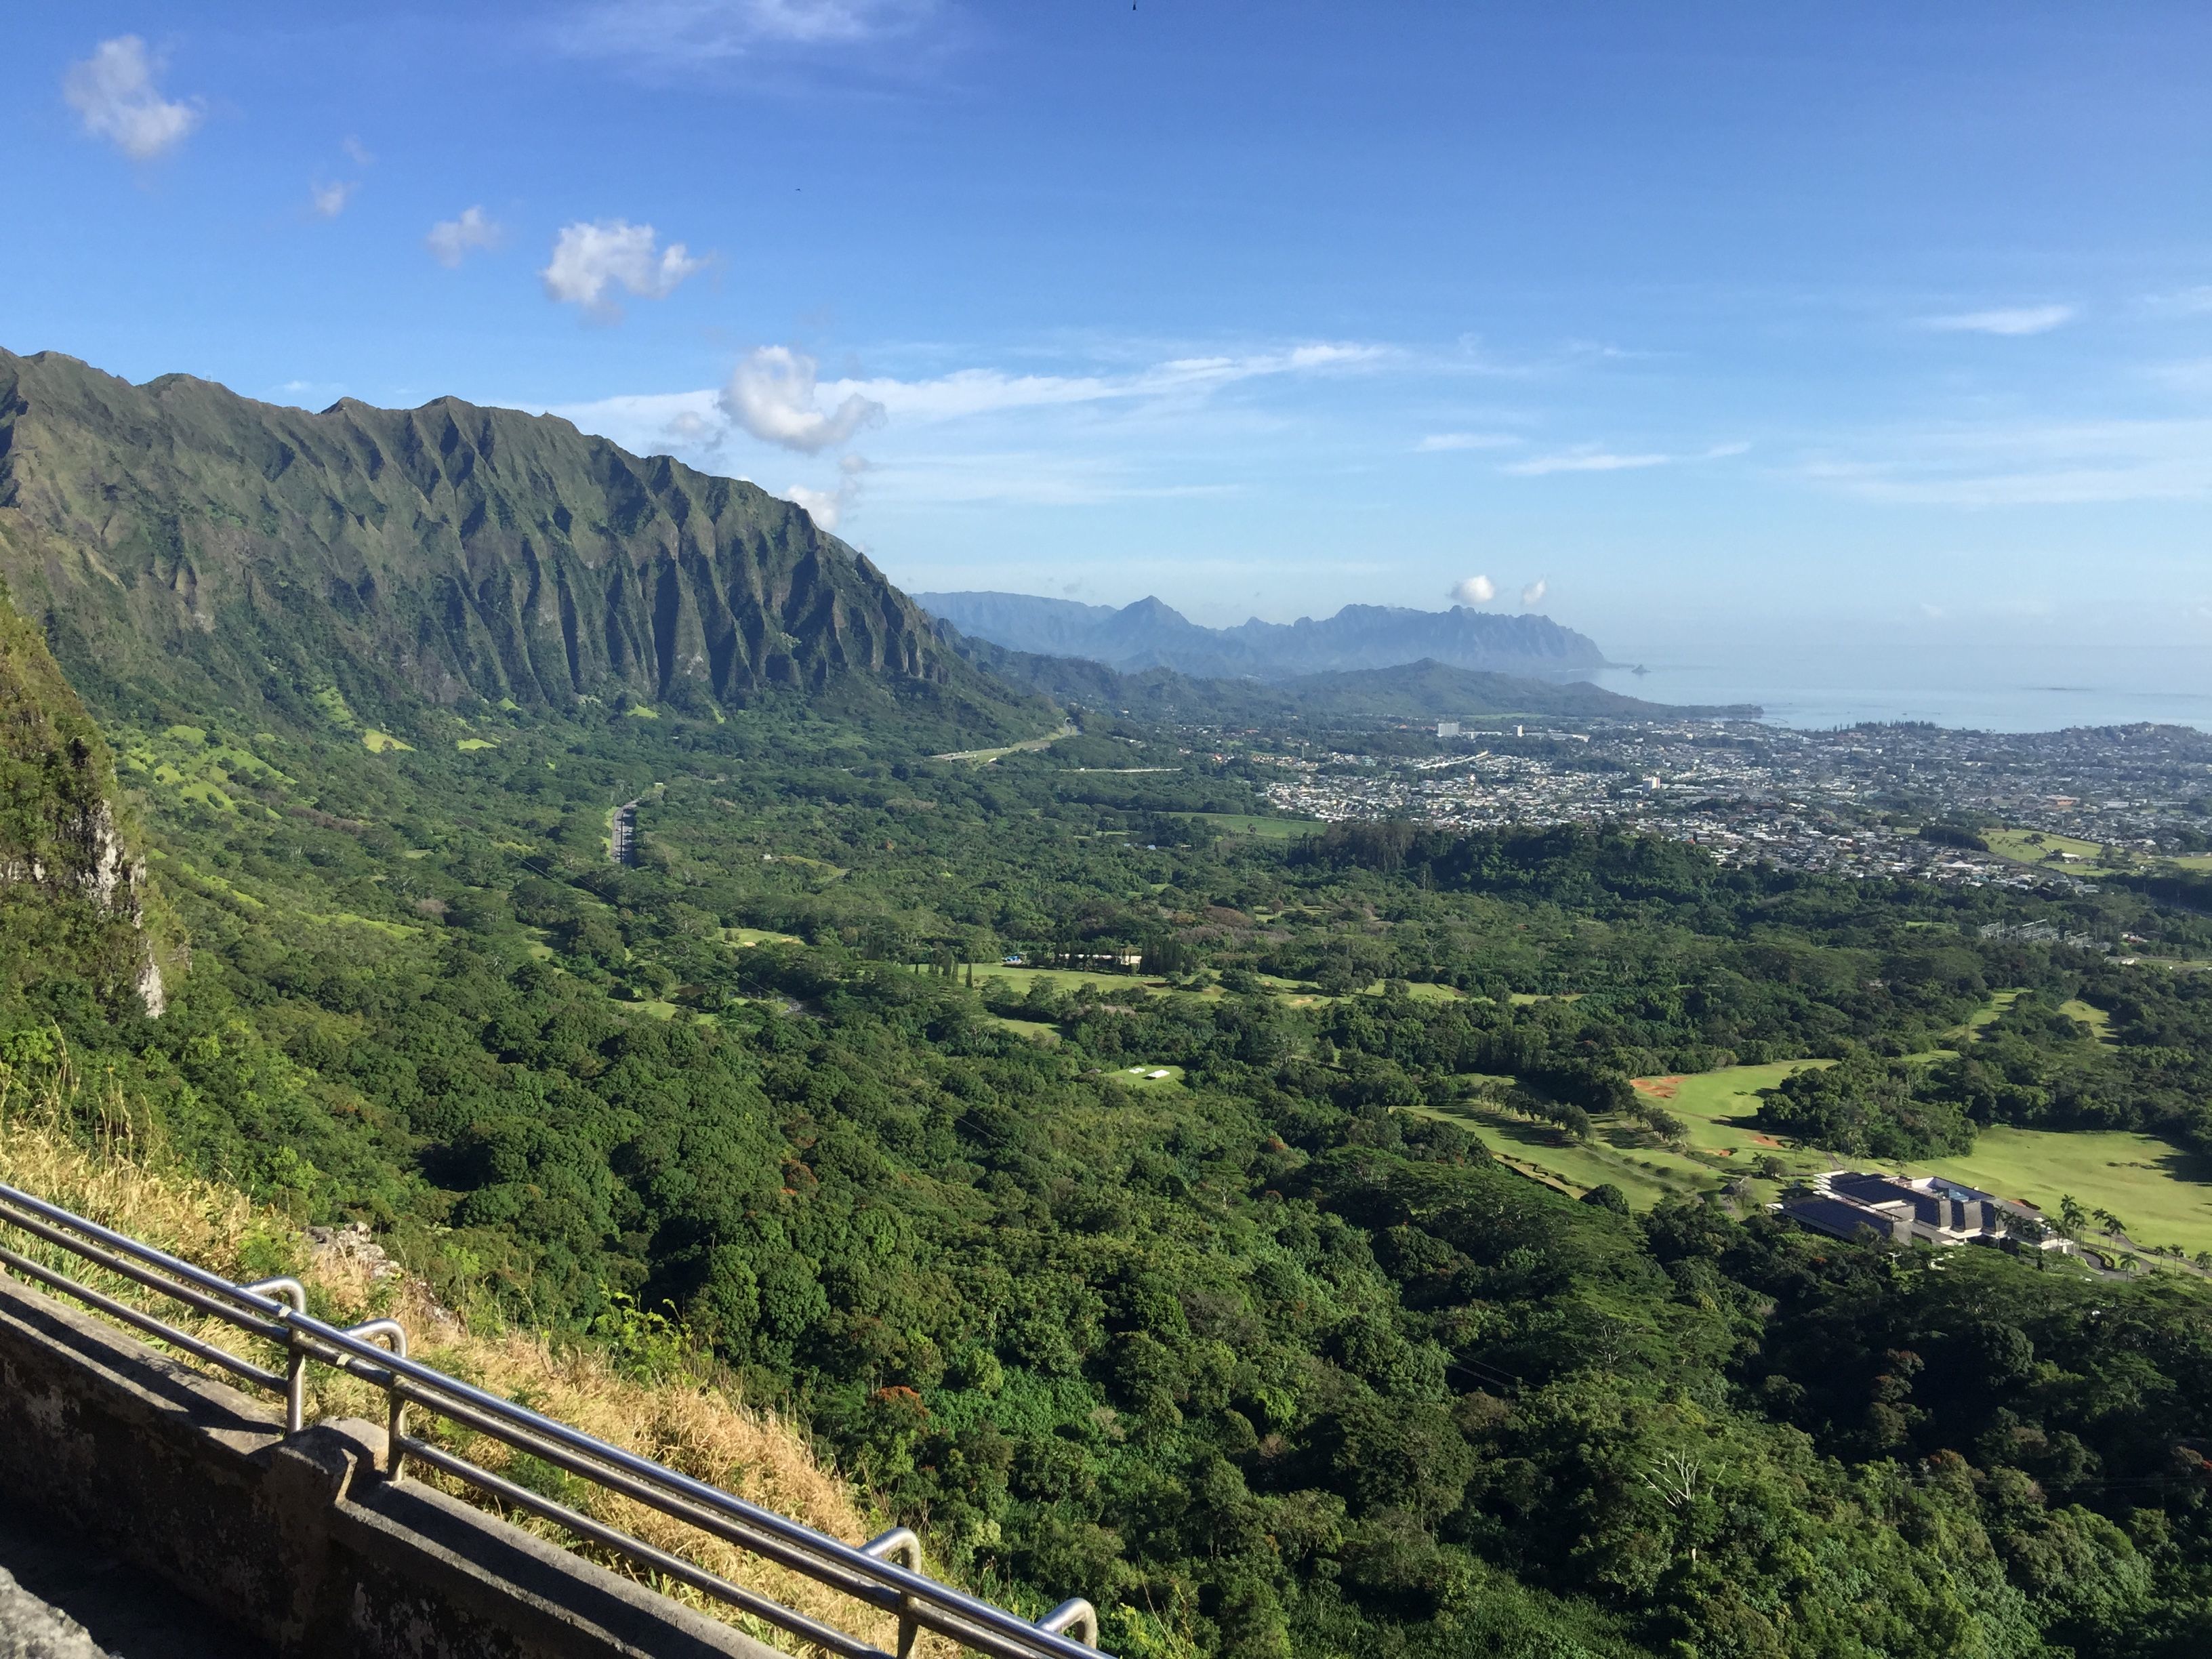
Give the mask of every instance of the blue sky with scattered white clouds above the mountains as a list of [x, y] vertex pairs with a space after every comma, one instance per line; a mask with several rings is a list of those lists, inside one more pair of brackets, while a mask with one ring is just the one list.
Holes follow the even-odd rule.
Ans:
[[[0, 343], [909, 588], [2212, 686], [2212, 9], [13, 7]], [[1482, 588], [1462, 588], [1480, 593]]]

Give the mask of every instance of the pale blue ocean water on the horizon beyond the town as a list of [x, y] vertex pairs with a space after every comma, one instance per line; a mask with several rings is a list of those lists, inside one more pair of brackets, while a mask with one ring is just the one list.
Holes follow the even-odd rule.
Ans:
[[2190, 688], [2194, 672], [2159, 672], [2148, 677], [2150, 686], [2130, 686], [2119, 677], [2108, 684], [2097, 684], [2104, 677], [2077, 675], [2035, 679], [2017, 670], [1960, 677], [1964, 684], [1927, 684], [1933, 675], [1911, 672], [1909, 664], [1885, 668], [1882, 675], [1854, 675], [1816, 664], [1652, 661], [1641, 675], [1608, 668], [1597, 675], [1597, 684], [1652, 703], [1759, 703], [1765, 721], [1812, 730], [1860, 721], [1931, 721], [1982, 732], [2055, 732], [2068, 726], [2152, 721], [2212, 732], [2212, 686]]

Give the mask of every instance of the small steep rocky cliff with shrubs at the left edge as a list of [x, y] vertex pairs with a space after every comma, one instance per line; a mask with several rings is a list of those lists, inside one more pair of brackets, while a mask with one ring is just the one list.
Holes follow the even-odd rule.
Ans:
[[159, 1015], [144, 887], [108, 748], [0, 593], [0, 995], [60, 964], [102, 1002]]

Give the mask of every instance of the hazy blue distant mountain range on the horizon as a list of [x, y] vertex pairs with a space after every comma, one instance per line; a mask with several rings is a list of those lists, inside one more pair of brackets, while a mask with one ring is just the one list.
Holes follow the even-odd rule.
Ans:
[[1201, 679], [1294, 679], [1433, 661], [1517, 679], [1586, 679], [1606, 666], [1593, 639], [1551, 617], [1347, 604], [1314, 622], [1206, 628], [1159, 599], [1119, 611], [1029, 593], [916, 593], [929, 615], [971, 639], [1046, 657], [1088, 657], [1121, 672], [1172, 668]]

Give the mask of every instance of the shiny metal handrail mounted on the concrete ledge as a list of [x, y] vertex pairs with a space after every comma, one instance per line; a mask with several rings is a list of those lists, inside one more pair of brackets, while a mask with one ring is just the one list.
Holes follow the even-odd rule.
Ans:
[[[529, 1411], [420, 1360], [407, 1358], [407, 1332], [400, 1329], [398, 1321], [378, 1318], [347, 1329], [314, 1318], [307, 1312], [305, 1290], [296, 1279], [265, 1279], [239, 1285], [7, 1183], [0, 1183], [0, 1223], [20, 1228], [146, 1290], [181, 1301], [201, 1314], [283, 1347], [288, 1356], [285, 1371], [265, 1371], [150, 1314], [104, 1296], [91, 1285], [82, 1285], [66, 1274], [58, 1274], [13, 1250], [0, 1248], [0, 1263], [7, 1267], [122, 1318], [150, 1336], [159, 1336], [164, 1343], [173, 1343], [186, 1354], [219, 1365], [257, 1387], [283, 1394], [285, 1427], [290, 1433], [303, 1427], [305, 1365], [310, 1360], [380, 1387], [389, 1400], [387, 1480], [405, 1480], [407, 1460], [422, 1462], [502, 1502], [529, 1509], [577, 1537], [628, 1555], [639, 1566], [690, 1584], [743, 1613], [790, 1630], [801, 1641], [847, 1655], [847, 1659], [894, 1659], [894, 1655], [885, 1655], [860, 1637], [730, 1584], [692, 1562], [646, 1544], [606, 1522], [580, 1515], [442, 1447], [409, 1436], [405, 1431], [405, 1411], [409, 1405], [418, 1405], [894, 1615], [898, 1619], [896, 1659], [907, 1659], [920, 1628], [936, 1630], [993, 1659], [1099, 1659], [1097, 1610], [1079, 1597], [1062, 1601], [1042, 1619], [1024, 1619], [1018, 1613], [1009, 1613], [925, 1575], [920, 1540], [905, 1526], [891, 1528], [858, 1548], [841, 1544], [803, 1522], [750, 1504], [703, 1480], [692, 1480], [650, 1458], [639, 1458], [597, 1436]], [[389, 1347], [378, 1347], [378, 1338]], [[889, 1559], [894, 1555], [905, 1557], [905, 1566]]]

